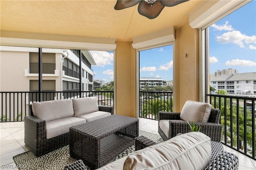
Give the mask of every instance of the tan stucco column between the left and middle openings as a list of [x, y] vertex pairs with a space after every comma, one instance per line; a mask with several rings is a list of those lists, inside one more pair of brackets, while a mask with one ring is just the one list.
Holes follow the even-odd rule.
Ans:
[[136, 60], [131, 42], [116, 42], [115, 57], [115, 112], [136, 117]]

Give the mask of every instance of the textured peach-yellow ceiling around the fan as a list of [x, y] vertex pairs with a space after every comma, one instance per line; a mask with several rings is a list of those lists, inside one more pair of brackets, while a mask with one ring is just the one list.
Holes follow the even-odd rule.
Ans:
[[116, 0], [1, 0], [0, 28], [131, 41], [168, 27], [179, 28], [202, 0], [165, 7], [155, 19], [138, 14], [138, 5], [114, 10]]

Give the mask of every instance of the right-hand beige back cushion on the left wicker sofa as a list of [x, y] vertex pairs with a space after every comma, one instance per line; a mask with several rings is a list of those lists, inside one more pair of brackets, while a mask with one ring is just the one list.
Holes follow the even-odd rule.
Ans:
[[99, 111], [96, 97], [72, 99], [74, 107], [74, 115], [78, 116], [85, 113]]

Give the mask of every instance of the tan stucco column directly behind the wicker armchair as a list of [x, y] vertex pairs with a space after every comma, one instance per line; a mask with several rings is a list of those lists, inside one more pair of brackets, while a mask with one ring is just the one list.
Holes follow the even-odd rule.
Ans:
[[180, 112], [187, 100], [199, 100], [198, 30], [188, 23], [176, 29], [174, 48], [174, 111]]

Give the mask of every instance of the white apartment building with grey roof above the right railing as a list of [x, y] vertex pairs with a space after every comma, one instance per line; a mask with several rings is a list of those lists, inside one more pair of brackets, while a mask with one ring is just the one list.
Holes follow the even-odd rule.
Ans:
[[256, 72], [224, 74], [210, 80], [210, 86], [234, 96], [256, 97]]

